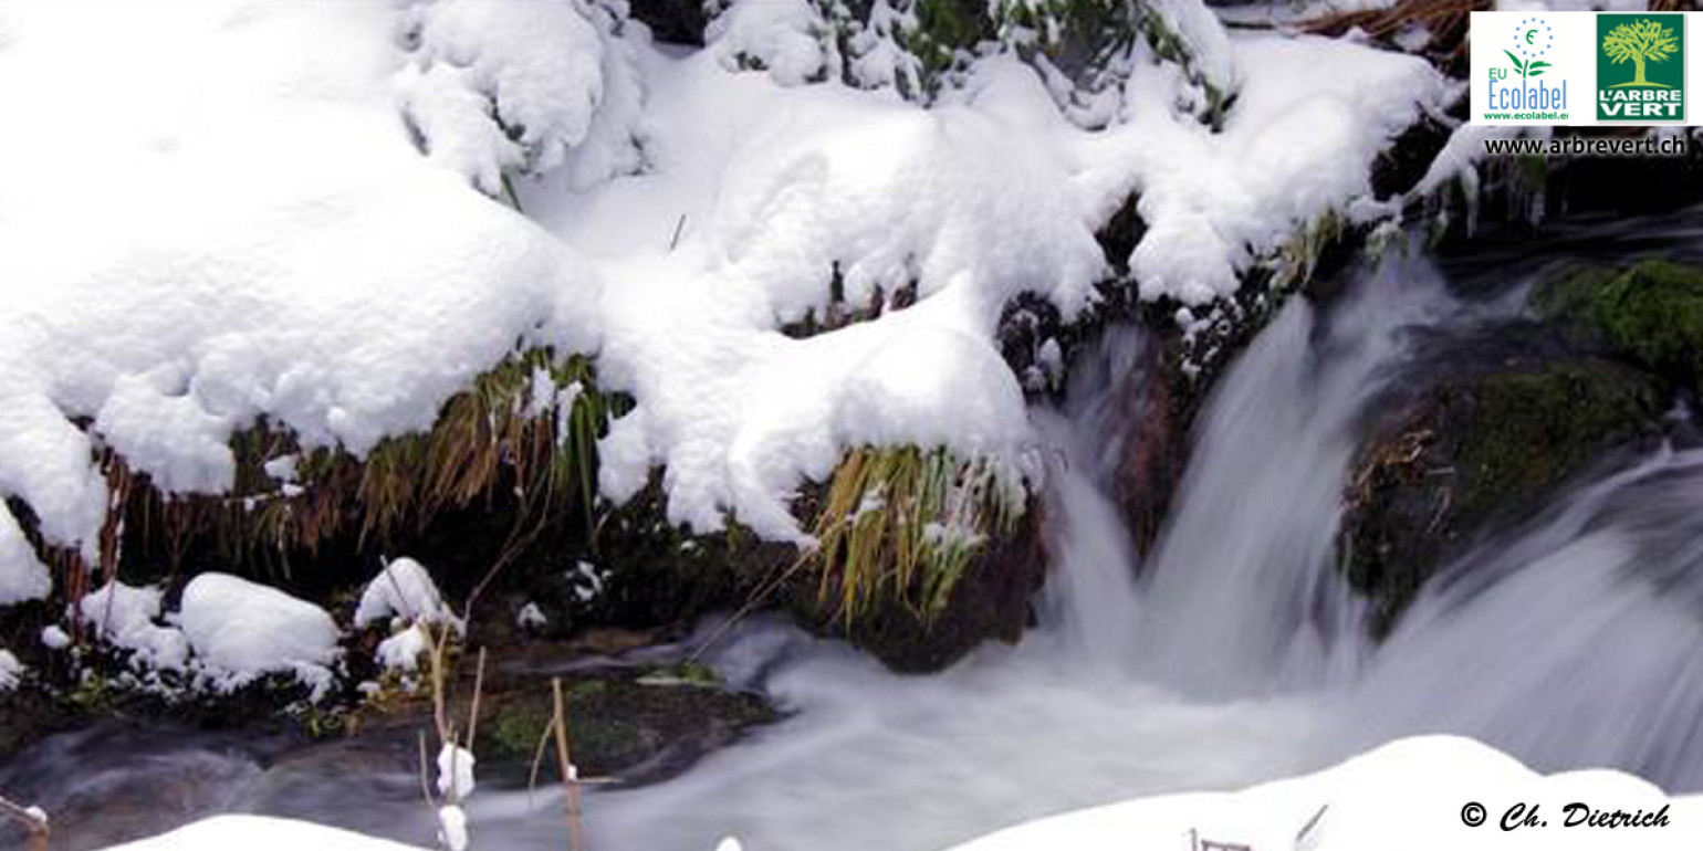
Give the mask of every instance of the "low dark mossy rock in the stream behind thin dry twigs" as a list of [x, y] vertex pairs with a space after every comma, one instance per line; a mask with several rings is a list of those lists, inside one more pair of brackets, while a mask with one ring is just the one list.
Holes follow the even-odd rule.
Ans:
[[[654, 783], [778, 718], [761, 694], [734, 691], [705, 665], [654, 665], [565, 679], [569, 742], [584, 778]], [[548, 684], [507, 694], [480, 727], [480, 769], [525, 783], [553, 715]], [[542, 776], [553, 778], [547, 754]]]

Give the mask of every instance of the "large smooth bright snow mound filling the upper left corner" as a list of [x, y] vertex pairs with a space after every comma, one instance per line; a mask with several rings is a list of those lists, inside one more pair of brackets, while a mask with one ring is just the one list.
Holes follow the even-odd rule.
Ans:
[[364, 453], [518, 337], [594, 344], [582, 264], [410, 140], [393, 3], [89, 15], [0, 7], [0, 495], [49, 540], [94, 546], [95, 441], [221, 490], [262, 414]]

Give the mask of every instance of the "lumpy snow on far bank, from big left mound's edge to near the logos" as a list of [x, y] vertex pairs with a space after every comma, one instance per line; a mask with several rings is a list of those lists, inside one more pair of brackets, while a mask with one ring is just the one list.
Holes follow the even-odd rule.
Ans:
[[[799, 478], [858, 443], [938, 443], [1030, 473], [1022, 391], [993, 340], [1012, 296], [1066, 317], [1088, 305], [1109, 274], [1093, 233], [1129, 192], [1150, 228], [1131, 257], [1143, 296], [1230, 294], [1298, 226], [1364, 196], [1376, 153], [1446, 94], [1424, 61], [1364, 46], [1228, 49], [1247, 80], [1223, 133], [1173, 109], [1163, 70], [1131, 78], [1122, 124], [1087, 133], [1010, 58], [920, 109], [731, 75], [715, 49], [649, 56], [652, 172], [523, 192], [608, 283], [599, 376], [639, 405], [601, 444], [605, 492], [623, 499], [664, 465], [674, 521], [717, 528], [731, 509], [800, 538]], [[836, 269], [848, 305], [911, 283], [918, 303], [777, 334], [823, 315]]]

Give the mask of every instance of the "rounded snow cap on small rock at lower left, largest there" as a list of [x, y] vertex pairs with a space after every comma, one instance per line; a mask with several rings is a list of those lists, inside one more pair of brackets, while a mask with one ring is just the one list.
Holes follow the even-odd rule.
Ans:
[[322, 696], [337, 662], [337, 625], [318, 606], [225, 574], [184, 589], [177, 621], [198, 674], [230, 691], [266, 674], [290, 674]]

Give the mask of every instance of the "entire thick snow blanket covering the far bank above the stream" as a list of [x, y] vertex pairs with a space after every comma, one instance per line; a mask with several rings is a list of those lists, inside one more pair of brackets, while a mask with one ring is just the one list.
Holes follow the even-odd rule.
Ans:
[[[1226, 298], [1299, 228], [1369, 209], [1376, 153], [1451, 94], [1410, 56], [1228, 36], [1167, 0], [1189, 70], [1132, 63], [1087, 131], [1010, 49], [923, 107], [843, 85], [806, 0], [737, 0], [685, 54], [623, 7], [121, 5], [97, 32], [0, 9], [0, 109], [34, 116], [0, 138], [20, 281], [0, 291], [0, 497], [94, 555], [97, 446], [221, 492], [233, 429], [264, 415], [359, 454], [516, 340], [596, 352], [637, 402], [599, 443], [603, 494], [662, 466], [669, 519], [697, 531], [737, 516], [807, 543], [792, 497], [858, 444], [938, 444], [1034, 487], [995, 340], [1013, 296], [1081, 315], [1110, 277], [1095, 230], [1136, 192], [1139, 294]], [[908, 26], [880, 9], [850, 46], [867, 85]], [[1238, 92], [1221, 131], [1177, 102], [1199, 80]], [[504, 174], [525, 214], [490, 197]], [[778, 334], [836, 286], [891, 310]]]

